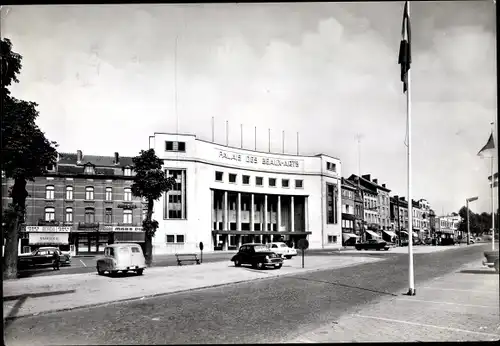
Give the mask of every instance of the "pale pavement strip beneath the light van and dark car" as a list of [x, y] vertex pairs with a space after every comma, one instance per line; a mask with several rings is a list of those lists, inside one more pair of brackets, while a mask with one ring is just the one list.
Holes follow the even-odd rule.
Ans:
[[372, 257], [297, 256], [279, 270], [234, 267], [232, 262], [147, 268], [143, 276], [117, 277], [97, 273], [32, 277], [4, 281], [4, 318], [71, 310], [116, 301], [235, 284], [245, 281], [301, 274], [380, 261]]

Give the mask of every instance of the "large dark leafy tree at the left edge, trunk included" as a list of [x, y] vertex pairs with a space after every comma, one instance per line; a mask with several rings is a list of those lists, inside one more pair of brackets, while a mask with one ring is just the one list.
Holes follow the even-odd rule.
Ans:
[[4, 278], [17, 277], [17, 247], [21, 224], [26, 212], [27, 181], [47, 172], [57, 158], [56, 142], [50, 142], [36, 125], [39, 113], [35, 102], [18, 100], [10, 96], [8, 86], [18, 83], [21, 71], [21, 55], [12, 51], [9, 39], [1, 40], [3, 119], [1, 145], [3, 171], [14, 180], [9, 197], [12, 203], [3, 211], [5, 222]]

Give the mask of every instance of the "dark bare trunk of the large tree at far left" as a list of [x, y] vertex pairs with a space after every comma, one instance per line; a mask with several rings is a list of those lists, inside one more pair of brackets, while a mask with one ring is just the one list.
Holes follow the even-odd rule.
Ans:
[[7, 234], [5, 235], [5, 249], [4, 249], [4, 279], [16, 279], [17, 278], [17, 255], [19, 246], [19, 226], [23, 222], [24, 212], [26, 210], [26, 197], [28, 197], [28, 192], [26, 191], [26, 179], [17, 178], [14, 181], [14, 186], [12, 187], [12, 207], [14, 208], [15, 217], [7, 229]]

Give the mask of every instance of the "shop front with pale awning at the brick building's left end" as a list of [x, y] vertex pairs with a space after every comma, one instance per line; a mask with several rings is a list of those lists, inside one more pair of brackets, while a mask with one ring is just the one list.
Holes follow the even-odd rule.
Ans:
[[70, 226], [26, 226], [21, 237], [21, 252], [32, 252], [40, 247], [53, 246], [70, 250]]

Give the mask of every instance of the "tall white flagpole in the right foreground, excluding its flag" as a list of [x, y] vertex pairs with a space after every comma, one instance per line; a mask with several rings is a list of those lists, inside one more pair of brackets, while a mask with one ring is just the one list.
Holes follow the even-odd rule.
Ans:
[[[410, 2], [407, 2], [408, 18], [410, 17]], [[407, 22], [407, 25], [408, 22]], [[408, 38], [409, 40], [410, 38]], [[410, 42], [409, 42], [410, 44]], [[415, 295], [415, 277], [413, 272], [413, 199], [411, 186], [411, 69], [407, 71], [407, 89], [406, 89], [406, 118], [408, 122], [408, 295]]]

